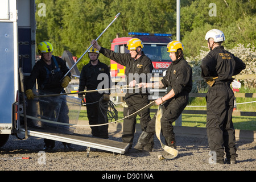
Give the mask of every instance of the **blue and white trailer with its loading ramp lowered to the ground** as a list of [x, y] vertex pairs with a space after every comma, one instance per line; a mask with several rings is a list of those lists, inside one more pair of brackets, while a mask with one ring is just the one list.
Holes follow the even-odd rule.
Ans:
[[[28, 127], [23, 82], [30, 76], [36, 59], [35, 15], [34, 0], [1, 0], [0, 147], [5, 145], [9, 135], [16, 135], [19, 139], [39, 137], [125, 154], [129, 148], [127, 143]], [[20, 138], [21, 135], [24, 138]]]

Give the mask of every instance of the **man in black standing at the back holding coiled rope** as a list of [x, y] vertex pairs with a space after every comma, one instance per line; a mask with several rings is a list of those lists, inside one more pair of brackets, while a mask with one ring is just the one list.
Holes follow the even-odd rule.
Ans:
[[[79, 80], [79, 92], [83, 92], [86, 86], [86, 90], [96, 90], [96, 89], [106, 89], [110, 88], [110, 73], [108, 65], [101, 63], [98, 60], [100, 52], [94, 47], [90, 48], [88, 51], [88, 56], [90, 62], [82, 67]], [[102, 78], [98, 78], [100, 74]], [[98, 88], [100, 82], [104, 81], [104, 88]], [[109, 101], [109, 90], [104, 91], [104, 93], [92, 92], [85, 94], [86, 100], [86, 109], [90, 125], [98, 125], [108, 123], [106, 118], [106, 113], [104, 110], [101, 111], [99, 101], [103, 97], [104, 101]], [[83, 93], [79, 94], [79, 97], [82, 98]], [[102, 126], [92, 126], [92, 136], [108, 139], [108, 125]]]

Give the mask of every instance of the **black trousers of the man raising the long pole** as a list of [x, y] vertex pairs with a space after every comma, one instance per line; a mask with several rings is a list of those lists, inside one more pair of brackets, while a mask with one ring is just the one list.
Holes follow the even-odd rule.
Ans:
[[[139, 93], [126, 93], [125, 101], [128, 107], [123, 107], [123, 116], [127, 117], [127, 115], [133, 114], [142, 107], [149, 104], [148, 95], [147, 94], [139, 94]], [[146, 131], [147, 124], [150, 122], [150, 109], [145, 109], [138, 113], [141, 118], [141, 127], [142, 131]], [[125, 143], [130, 143], [130, 147], [133, 144], [135, 126], [136, 126], [136, 117], [137, 114], [134, 114], [131, 117], [128, 117], [123, 120], [123, 135], [122, 140]]]

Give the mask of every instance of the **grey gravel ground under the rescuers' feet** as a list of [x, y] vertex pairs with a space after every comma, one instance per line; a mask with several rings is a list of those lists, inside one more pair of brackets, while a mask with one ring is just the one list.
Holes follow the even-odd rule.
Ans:
[[[90, 134], [90, 131], [85, 129], [77, 131], [80, 134]], [[121, 132], [113, 131], [109, 134], [109, 139], [121, 142]], [[137, 142], [139, 134], [135, 133], [135, 142]], [[157, 155], [159, 151], [162, 151], [162, 147], [156, 137], [152, 152], [128, 152], [125, 155], [114, 155], [112, 152], [98, 151], [91, 148], [90, 155], [87, 158], [86, 147], [84, 146], [73, 144], [74, 150], [65, 151], [62, 143], [56, 142], [55, 148], [51, 152], [41, 153], [40, 151], [42, 151], [44, 145], [42, 138], [28, 137], [26, 140], [19, 140], [10, 135], [8, 142], [0, 149], [0, 171], [82, 170], [113, 173], [113, 171], [255, 171], [256, 169], [255, 142], [237, 140], [238, 158], [237, 164], [234, 165], [204, 163], [204, 159], [209, 159], [206, 138], [176, 136], [176, 143], [179, 155], [173, 160], [158, 160]], [[20, 157], [31, 157], [31, 159], [10, 160], [11, 158]], [[102, 176], [104, 173], [102, 173]], [[102, 176], [98, 177], [102, 178]], [[128, 178], [128, 176], [126, 177]]]

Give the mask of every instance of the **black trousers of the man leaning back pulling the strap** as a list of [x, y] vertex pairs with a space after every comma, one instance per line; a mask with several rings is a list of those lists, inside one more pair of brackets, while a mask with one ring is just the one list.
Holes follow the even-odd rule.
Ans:
[[[163, 137], [168, 141], [170, 139], [174, 141], [175, 133], [174, 133], [174, 126], [172, 125], [173, 122], [176, 121], [177, 118], [179, 118], [182, 111], [185, 109], [185, 107], [188, 104], [188, 93], [183, 93], [178, 97], [170, 98], [170, 100], [167, 100], [163, 104], [163, 115], [160, 120], [161, 122], [161, 132], [163, 134]], [[156, 114], [154, 115], [154, 118], [151, 119], [151, 121], [148, 123], [147, 126], [147, 133], [155, 133], [155, 119]], [[166, 143], [168, 145], [168, 143]]]

